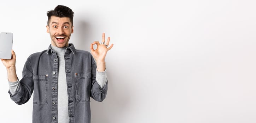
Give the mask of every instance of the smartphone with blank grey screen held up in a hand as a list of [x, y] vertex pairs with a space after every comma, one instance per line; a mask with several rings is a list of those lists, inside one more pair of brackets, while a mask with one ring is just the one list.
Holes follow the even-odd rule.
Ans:
[[11, 59], [12, 58], [12, 38], [11, 32], [0, 33], [0, 58]]

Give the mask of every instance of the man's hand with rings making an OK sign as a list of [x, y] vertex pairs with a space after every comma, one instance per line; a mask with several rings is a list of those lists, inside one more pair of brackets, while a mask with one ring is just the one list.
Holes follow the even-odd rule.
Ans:
[[[105, 57], [106, 57], [107, 51], [109, 51], [114, 45], [114, 44], [111, 44], [109, 47], [107, 47], [109, 45], [109, 41], [110, 41], [110, 37], [107, 38], [107, 43], [105, 43], [105, 33], [103, 33], [101, 44], [99, 43], [99, 41], [94, 41], [91, 44], [91, 53], [93, 55], [93, 58], [96, 60], [97, 70], [99, 72], [104, 71], [106, 69]], [[93, 49], [94, 44], [97, 45], [96, 50]]]

